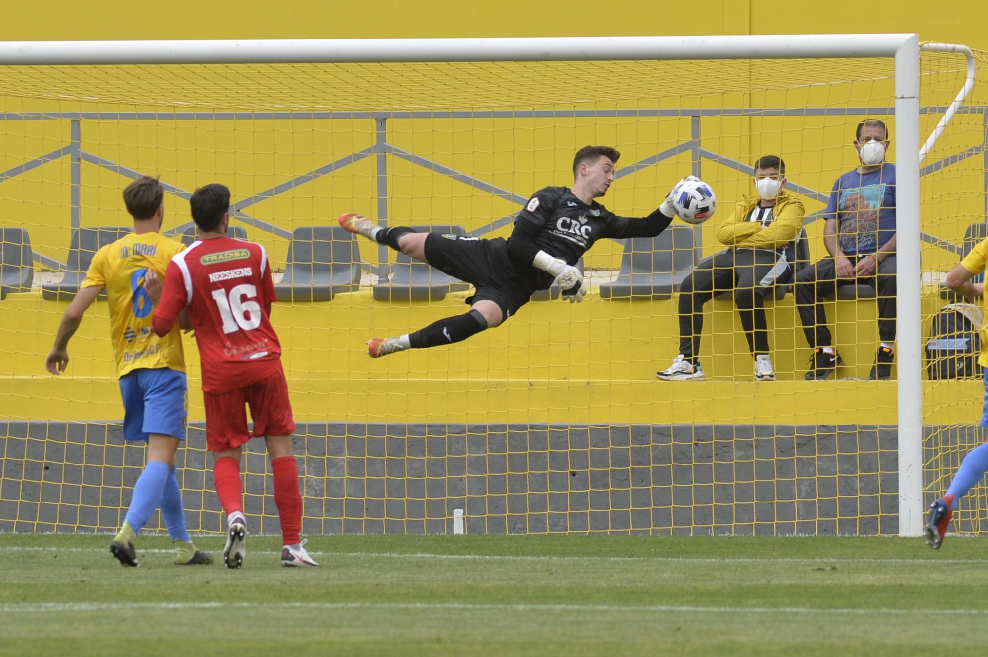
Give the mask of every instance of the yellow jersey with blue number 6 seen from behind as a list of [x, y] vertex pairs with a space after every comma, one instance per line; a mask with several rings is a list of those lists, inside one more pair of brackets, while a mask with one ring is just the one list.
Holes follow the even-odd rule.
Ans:
[[118, 376], [141, 368], [185, 372], [179, 326], [164, 337], [154, 334], [154, 307], [144, 289], [147, 270], [154, 270], [164, 282], [168, 262], [184, 248], [159, 233], [130, 233], [93, 256], [81, 287], [106, 288]]

